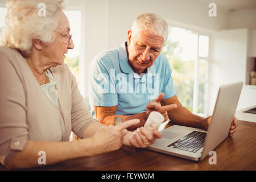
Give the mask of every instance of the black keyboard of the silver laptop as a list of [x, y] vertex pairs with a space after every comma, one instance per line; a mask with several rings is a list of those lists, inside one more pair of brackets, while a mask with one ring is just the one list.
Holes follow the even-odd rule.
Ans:
[[201, 131], [192, 131], [185, 137], [177, 140], [176, 142], [171, 143], [168, 147], [173, 146], [174, 148], [185, 150], [189, 152], [197, 152], [204, 146], [204, 140], [206, 137], [205, 132]]

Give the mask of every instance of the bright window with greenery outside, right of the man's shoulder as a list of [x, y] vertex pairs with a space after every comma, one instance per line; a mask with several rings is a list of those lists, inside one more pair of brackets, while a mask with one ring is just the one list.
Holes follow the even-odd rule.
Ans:
[[209, 36], [169, 27], [162, 53], [172, 68], [172, 78], [181, 104], [193, 113], [204, 113], [208, 79]]

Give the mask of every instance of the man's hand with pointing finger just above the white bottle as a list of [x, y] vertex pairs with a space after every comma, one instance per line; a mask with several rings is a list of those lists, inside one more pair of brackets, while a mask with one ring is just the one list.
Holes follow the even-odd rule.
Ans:
[[168, 120], [167, 111], [172, 110], [172, 109], [177, 109], [177, 105], [170, 104], [170, 105], [162, 106], [160, 104], [160, 102], [163, 100], [163, 98], [164, 98], [164, 93], [160, 93], [159, 96], [155, 98], [155, 100], [153, 100], [152, 102], [149, 102], [147, 104], [147, 106], [146, 106], [147, 117], [152, 111], [158, 111], [159, 113], [161, 113], [163, 115], [164, 121]]

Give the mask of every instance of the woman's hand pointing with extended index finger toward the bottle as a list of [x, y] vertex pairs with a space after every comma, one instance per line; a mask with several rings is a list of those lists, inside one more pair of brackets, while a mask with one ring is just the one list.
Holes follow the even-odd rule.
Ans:
[[102, 126], [92, 137], [93, 155], [115, 151], [121, 148], [123, 136], [128, 132], [127, 127], [137, 125], [138, 123], [139, 119], [131, 119], [117, 126]]

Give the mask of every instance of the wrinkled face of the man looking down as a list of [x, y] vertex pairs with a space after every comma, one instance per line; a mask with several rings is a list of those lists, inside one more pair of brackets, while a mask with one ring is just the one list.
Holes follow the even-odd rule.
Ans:
[[135, 73], [140, 75], [154, 64], [161, 52], [163, 40], [162, 36], [157, 36], [148, 30], [128, 31], [127, 55]]

